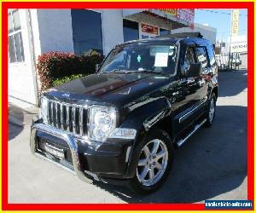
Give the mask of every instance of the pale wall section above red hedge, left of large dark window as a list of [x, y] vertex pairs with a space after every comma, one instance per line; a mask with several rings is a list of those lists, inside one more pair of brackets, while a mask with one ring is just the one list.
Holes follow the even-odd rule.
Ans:
[[73, 52], [70, 9], [38, 9], [38, 27], [42, 53]]

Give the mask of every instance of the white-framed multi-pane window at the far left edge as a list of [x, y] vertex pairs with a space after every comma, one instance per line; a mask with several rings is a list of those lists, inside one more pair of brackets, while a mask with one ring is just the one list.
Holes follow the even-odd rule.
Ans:
[[19, 10], [12, 10], [8, 14], [8, 43], [9, 62], [24, 61], [24, 49], [21, 35]]

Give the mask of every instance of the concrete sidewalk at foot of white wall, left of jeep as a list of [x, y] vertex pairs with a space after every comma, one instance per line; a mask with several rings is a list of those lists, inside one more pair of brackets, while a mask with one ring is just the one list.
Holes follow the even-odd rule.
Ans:
[[9, 123], [19, 126], [31, 125], [32, 118], [38, 114], [38, 107], [20, 108], [13, 103], [8, 104]]

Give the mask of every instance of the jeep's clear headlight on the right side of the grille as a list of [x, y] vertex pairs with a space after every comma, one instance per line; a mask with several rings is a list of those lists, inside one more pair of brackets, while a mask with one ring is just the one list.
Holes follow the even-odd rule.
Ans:
[[90, 108], [89, 137], [93, 141], [106, 141], [116, 125], [114, 107], [92, 106]]

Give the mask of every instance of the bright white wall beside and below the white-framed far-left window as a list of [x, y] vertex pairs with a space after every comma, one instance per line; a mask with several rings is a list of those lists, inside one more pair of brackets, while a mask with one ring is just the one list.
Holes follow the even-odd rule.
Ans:
[[27, 10], [19, 9], [21, 33], [23, 40], [25, 61], [9, 63], [8, 69], [8, 93], [11, 97], [37, 104], [37, 90], [35, 89], [35, 78], [32, 61], [32, 47], [30, 42], [29, 24], [27, 21]]

